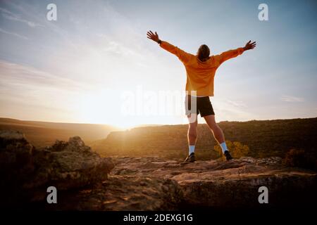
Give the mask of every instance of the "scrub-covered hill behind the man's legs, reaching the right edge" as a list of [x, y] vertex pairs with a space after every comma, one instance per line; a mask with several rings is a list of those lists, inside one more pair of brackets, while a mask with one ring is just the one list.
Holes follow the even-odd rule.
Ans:
[[[225, 139], [249, 147], [249, 156], [281, 156], [292, 148], [317, 152], [317, 117], [292, 120], [252, 120], [220, 122]], [[206, 124], [199, 124], [197, 156], [217, 158], [216, 141]], [[99, 153], [111, 156], [159, 156], [182, 158], [187, 155], [187, 125], [137, 127], [114, 131], [104, 140], [90, 144]]]

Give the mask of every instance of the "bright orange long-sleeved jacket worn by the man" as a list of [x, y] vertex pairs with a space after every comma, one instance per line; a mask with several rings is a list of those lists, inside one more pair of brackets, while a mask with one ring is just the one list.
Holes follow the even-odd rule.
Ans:
[[182, 51], [182, 49], [178, 49], [178, 47], [166, 41], [162, 41], [160, 46], [178, 56], [185, 65], [187, 73], [186, 91], [197, 91], [197, 96], [213, 96], [213, 80], [217, 68], [225, 60], [239, 56], [244, 51], [243, 48], [225, 51], [220, 55], [209, 57], [209, 60], [205, 62], [201, 62], [197, 56]]

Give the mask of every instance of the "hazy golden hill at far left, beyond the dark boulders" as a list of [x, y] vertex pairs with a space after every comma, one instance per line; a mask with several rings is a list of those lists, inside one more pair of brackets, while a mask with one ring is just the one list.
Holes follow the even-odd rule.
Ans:
[[103, 124], [76, 124], [61, 122], [37, 122], [0, 118], [1, 129], [14, 129], [25, 134], [35, 147], [49, 146], [56, 139], [68, 141], [70, 136], [80, 136], [89, 144], [98, 139], [104, 139], [115, 127]]

